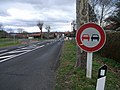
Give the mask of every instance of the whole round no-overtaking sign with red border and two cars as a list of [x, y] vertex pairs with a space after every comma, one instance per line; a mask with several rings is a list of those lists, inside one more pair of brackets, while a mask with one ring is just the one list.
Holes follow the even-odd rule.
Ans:
[[103, 47], [106, 41], [106, 35], [99, 25], [87, 23], [78, 29], [76, 41], [78, 46], [84, 51], [95, 52]]

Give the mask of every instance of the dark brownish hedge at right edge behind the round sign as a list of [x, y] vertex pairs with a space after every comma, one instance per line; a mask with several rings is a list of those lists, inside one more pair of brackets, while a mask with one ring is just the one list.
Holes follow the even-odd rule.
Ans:
[[106, 36], [106, 43], [99, 51], [100, 55], [120, 62], [120, 32], [109, 32]]

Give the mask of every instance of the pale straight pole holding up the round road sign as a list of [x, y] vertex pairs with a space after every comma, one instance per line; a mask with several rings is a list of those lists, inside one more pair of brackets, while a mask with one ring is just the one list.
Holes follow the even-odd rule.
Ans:
[[92, 58], [93, 58], [93, 53], [92, 52], [87, 52], [87, 72], [86, 72], [86, 77], [87, 78], [92, 78]]

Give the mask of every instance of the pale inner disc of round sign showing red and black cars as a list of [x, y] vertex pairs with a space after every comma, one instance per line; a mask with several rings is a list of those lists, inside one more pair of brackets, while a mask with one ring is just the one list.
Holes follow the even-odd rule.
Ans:
[[86, 28], [81, 33], [80, 39], [84, 46], [92, 48], [100, 43], [101, 35], [95, 28]]

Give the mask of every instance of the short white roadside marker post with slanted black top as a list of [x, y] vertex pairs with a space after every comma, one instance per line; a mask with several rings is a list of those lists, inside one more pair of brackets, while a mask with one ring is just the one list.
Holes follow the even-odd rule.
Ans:
[[106, 80], [106, 72], [107, 72], [107, 66], [106, 65], [102, 66], [99, 69], [96, 90], [104, 90], [105, 80]]

